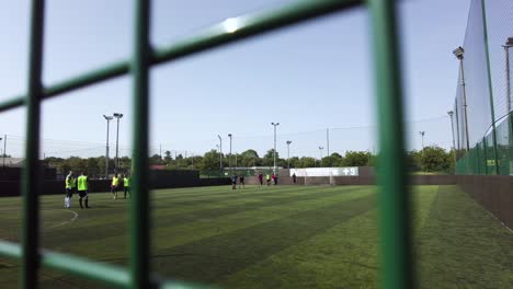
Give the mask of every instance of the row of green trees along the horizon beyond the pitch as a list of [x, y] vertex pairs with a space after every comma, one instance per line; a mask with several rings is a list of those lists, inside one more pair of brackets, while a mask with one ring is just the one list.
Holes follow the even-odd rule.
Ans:
[[[408, 169], [411, 172], [449, 172], [454, 167], [452, 151], [432, 146], [425, 147], [421, 151], [408, 151], [406, 153]], [[182, 154], [173, 155], [171, 151], [166, 151], [161, 157], [153, 154], [149, 158], [151, 165], [160, 165], [167, 170], [200, 170], [214, 171], [223, 167], [252, 167], [252, 166], [273, 166], [274, 150], [270, 149], [262, 157], [255, 150], [247, 150], [242, 153], [219, 154], [216, 150], [210, 150], [204, 155], [184, 157]], [[59, 174], [66, 174], [68, 171], [86, 171], [91, 176], [105, 175], [105, 157], [80, 158], [70, 157], [67, 159], [48, 157], [44, 162], [49, 167], [55, 167]], [[115, 160], [109, 160], [110, 173], [114, 172]], [[132, 159], [128, 157], [119, 158], [118, 171], [128, 172], [132, 169]], [[292, 157], [289, 160], [281, 158], [276, 152], [276, 165], [281, 167], [316, 167], [316, 166], [376, 166], [377, 160], [369, 151], [346, 151], [344, 155], [333, 152], [322, 159], [311, 157]]]

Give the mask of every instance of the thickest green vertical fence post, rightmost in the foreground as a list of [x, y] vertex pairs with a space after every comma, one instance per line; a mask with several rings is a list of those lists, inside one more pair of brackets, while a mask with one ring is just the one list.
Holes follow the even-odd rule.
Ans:
[[381, 288], [414, 287], [407, 189], [402, 89], [394, 0], [371, 0], [379, 123]]

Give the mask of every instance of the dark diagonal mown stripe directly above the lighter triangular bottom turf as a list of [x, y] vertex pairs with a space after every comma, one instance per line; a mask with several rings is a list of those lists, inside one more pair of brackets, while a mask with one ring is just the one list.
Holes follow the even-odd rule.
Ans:
[[375, 203], [376, 195], [365, 196], [183, 245], [158, 248], [152, 255], [152, 265], [160, 273], [180, 279], [218, 282], [263, 258], [374, 209]]

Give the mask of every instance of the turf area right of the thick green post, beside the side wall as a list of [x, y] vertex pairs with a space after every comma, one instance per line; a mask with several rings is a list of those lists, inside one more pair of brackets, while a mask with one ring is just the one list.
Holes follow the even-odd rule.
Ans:
[[456, 186], [440, 186], [415, 246], [422, 288], [513, 288], [513, 234]]

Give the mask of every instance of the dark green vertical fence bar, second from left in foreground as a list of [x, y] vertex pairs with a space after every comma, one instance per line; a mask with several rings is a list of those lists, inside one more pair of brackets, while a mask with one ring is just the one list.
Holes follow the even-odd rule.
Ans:
[[148, 192], [149, 131], [149, 0], [136, 0], [133, 73], [133, 166], [134, 192], [130, 204], [130, 275], [132, 288], [149, 288], [150, 217]]

